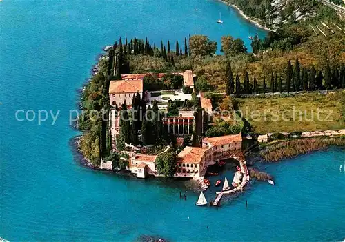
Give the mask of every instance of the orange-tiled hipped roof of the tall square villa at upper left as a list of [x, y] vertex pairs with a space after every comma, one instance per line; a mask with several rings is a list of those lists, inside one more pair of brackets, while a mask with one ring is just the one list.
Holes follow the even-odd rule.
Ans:
[[119, 80], [119, 81], [110, 81], [109, 93], [136, 93], [143, 92], [143, 80]]

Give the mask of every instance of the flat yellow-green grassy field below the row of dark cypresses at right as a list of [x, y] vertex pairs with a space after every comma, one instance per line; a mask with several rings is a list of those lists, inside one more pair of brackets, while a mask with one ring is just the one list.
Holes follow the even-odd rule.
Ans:
[[345, 91], [295, 97], [237, 99], [254, 132], [295, 132], [345, 128]]

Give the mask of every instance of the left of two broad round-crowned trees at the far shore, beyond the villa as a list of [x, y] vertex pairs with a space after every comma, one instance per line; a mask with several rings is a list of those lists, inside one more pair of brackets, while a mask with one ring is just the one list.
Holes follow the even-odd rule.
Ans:
[[189, 38], [189, 49], [193, 57], [213, 56], [217, 50], [217, 42], [210, 41], [206, 35], [193, 35]]

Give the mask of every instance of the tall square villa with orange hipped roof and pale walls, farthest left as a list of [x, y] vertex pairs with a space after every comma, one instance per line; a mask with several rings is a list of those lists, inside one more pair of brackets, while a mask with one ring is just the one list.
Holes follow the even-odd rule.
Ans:
[[139, 92], [143, 94], [143, 80], [142, 79], [131, 79], [131, 80], [119, 80], [110, 81], [109, 85], [109, 100], [110, 105], [119, 107], [126, 100], [127, 105], [132, 105], [133, 95]]

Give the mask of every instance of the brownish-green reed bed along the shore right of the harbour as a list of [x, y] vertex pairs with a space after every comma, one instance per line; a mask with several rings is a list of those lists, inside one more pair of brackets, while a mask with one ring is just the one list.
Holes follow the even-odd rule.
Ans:
[[271, 145], [260, 152], [266, 162], [277, 162], [281, 159], [296, 157], [315, 150], [323, 150], [330, 145], [345, 146], [345, 137], [306, 138], [285, 141]]

